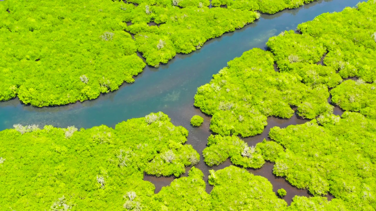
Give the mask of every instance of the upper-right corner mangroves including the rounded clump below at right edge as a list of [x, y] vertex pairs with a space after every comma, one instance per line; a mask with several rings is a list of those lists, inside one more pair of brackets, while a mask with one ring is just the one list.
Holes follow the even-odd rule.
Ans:
[[[312, 21], [299, 24], [302, 35], [292, 31], [271, 38], [267, 45], [275, 54], [281, 71], [294, 72], [304, 83], [324, 83], [337, 86], [338, 74], [343, 77], [358, 77], [360, 80], [344, 81], [331, 91], [332, 102], [347, 111], [357, 111], [369, 118], [376, 118], [374, 87], [376, 82], [376, 3], [359, 3], [356, 9], [346, 8], [332, 14], [322, 14]], [[320, 61], [319, 69], [307, 66]], [[314, 77], [309, 77], [313, 75]], [[308, 77], [308, 78], [306, 78]]]

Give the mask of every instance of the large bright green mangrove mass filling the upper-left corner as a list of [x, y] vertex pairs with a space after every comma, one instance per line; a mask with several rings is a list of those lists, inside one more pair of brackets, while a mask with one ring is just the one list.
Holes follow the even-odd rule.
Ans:
[[[97, 98], [142, 71], [123, 2], [0, 2], [0, 100], [35, 106]], [[7, 9], [10, 13], [7, 12]]]

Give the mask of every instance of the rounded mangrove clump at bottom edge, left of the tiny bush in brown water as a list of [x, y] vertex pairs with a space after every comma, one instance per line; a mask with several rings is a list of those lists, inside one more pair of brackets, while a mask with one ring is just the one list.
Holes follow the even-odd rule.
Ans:
[[273, 186], [246, 169], [229, 166], [210, 171], [213, 210], [285, 210], [287, 203], [273, 192]]

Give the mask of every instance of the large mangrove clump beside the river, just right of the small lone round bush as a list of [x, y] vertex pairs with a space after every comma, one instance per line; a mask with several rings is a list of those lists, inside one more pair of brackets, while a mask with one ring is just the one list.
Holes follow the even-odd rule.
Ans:
[[262, 133], [267, 116], [290, 118], [293, 105], [304, 118], [332, 113], [325, 85], [307, 86], [297, 74], [274, 71], [268, 51], [255, 48], [227, 64], [195, 95], [194, 105], [213, 115], [210, 129], [215, 133], [243, 137]]

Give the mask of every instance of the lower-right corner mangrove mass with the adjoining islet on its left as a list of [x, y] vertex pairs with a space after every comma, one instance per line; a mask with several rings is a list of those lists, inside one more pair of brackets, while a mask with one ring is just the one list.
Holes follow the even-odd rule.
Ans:
[[[203, 151], [204, 161], [213, 166], [230, 157], [235, 165], [260, 168], [264, 159], [269, 160], [276, 163], [276, 176], [284, 176], [314, 196], [329, 192], [340, 208], [376, 208], [375, 121], [345, 112], [342, 117], [331, 114], [303, 125], [274, 127], [269, 136], [274, 141], [249, 147], [236, 136], [211, 135]], [[278, 194], [286, 193], [281, 190]]]

